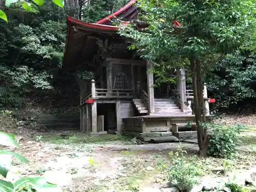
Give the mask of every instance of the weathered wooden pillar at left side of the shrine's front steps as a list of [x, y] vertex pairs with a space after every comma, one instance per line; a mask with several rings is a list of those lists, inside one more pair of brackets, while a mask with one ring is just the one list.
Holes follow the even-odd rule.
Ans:
[[152, 73], [153, 65], [152, 62], [147, 62], [147, 95], [148, 95], [148, 114], [154, 114], [154, 76]]

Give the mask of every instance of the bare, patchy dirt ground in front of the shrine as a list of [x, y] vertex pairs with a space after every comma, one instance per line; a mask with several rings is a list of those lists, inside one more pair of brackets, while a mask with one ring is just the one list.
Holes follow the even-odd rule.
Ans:
[[[248, 169], [256, 166], [256, 120], [252, 122], [247, 117], [244, 122], [245, 117], [236, 117], [219, 121], [236, 123], [240, 120], [249, 124], [249, 130], [243, 133], [243, 143], [232, 164], [236, 169]], [[168, 165], [168, 153], [180, 144], [137, 145], [131, 138], [118, 135], [89, 137], [79, 132], [26, 133], [17, 138], [22, 139], [19, 141], [22, 148], [18, 152], [30, 163], [14, 160], [10, 178], [45, 175], [64, 191], [76, 192], [139, 191], [147, 186], [162, 186], [167, 173], [161, 167]], [[202, 175], [214, 175], [212, 168], [222, 165], [222, 159], [199, 158], [197, 144], [181, 143], [181, 146], [188, 152], [187, 158], [198, 165]]]

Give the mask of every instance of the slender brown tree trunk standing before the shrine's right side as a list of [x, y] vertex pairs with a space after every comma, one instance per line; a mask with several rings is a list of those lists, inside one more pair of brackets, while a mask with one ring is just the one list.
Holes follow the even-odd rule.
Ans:
[[198, 59], [190, 59], [190, 69], [193, 82], [194, 93], [194, 112], [197, 126], [197, 139], [199, 146], [199, 155], [207, 156], [207, 129], [205, 126], [205, 106], [203, 98], [203, 81], [201, 74], [201, 62]]

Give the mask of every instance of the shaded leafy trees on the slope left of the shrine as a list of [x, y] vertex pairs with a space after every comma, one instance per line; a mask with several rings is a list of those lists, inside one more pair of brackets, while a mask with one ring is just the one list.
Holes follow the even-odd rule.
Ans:
[[[0, 21], [2, 106], [20, 104], [33, 89], [52, 89], [51, 79], [61, 67], [65, 47], [65, 13], [50, 2], [41, 14], [10, 12], [9, 24]], [[58, 17], [52, 15], [58, 13]]]

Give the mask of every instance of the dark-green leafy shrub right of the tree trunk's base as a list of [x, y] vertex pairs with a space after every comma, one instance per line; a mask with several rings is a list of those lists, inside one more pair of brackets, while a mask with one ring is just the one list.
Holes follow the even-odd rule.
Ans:
[[213, 134], [210, 137], [208, 154], [214, 157], [231, 158], [236, 153], [239, 135], [246, 129], [246, 126], [210, 124], [210, 127]]

